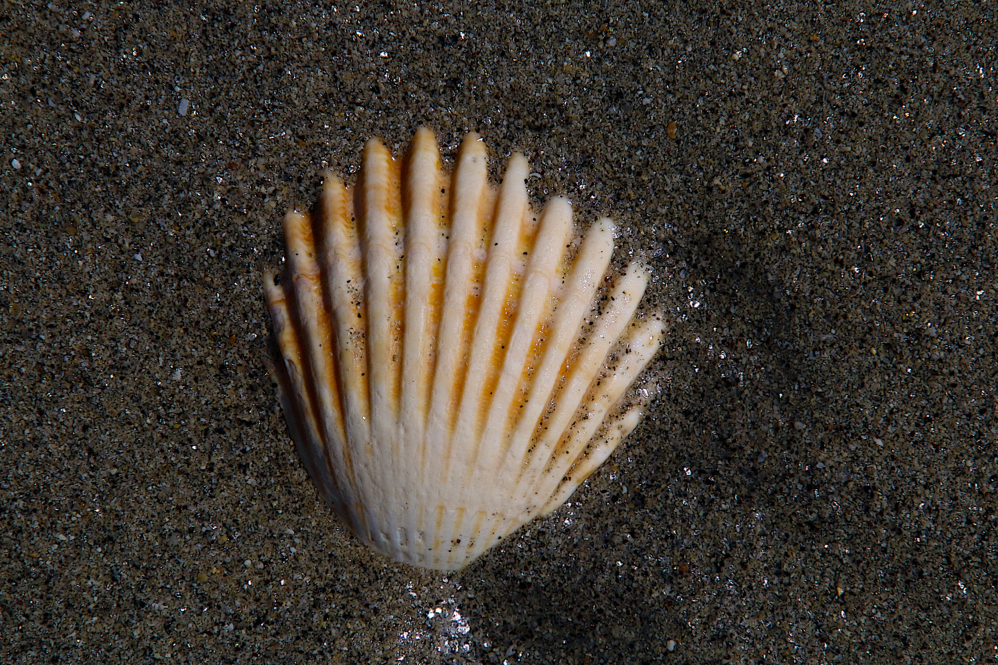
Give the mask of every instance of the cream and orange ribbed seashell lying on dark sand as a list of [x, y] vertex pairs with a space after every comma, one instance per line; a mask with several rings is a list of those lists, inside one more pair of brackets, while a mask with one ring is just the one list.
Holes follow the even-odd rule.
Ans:
[[627, 389], [659, 347], [635, 262], [607, 275], [614, 224], [572, 243], [572, 206], [538, 217], [513, 155], [498, 188], [475, 134], [446, 173], [420, 129], [357, 184], [327, 174], [284, 219], [264, 278], [277, 393], [319, 494], [367, 545], [456, 570], [568, 499], [638, 424]]

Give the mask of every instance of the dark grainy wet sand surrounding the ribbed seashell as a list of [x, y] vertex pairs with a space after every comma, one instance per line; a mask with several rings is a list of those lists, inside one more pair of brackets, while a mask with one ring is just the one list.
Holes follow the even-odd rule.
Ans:
[[[993, 662], [977, 4], [6, 3], [0, 660]], [[670, 320], [634, 435], [451, 576], [317, 502], [260, 290], [420, 123], [612, 214]]]

